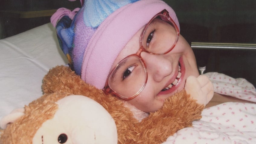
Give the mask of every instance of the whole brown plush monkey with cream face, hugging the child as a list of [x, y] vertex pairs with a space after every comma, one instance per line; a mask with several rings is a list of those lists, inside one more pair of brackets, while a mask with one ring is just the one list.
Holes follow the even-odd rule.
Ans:
[[[104, 94], [102, 90], [83, 82], [69, 67], [57, 66], [51, 69], [43, 79], [42, 89], [45, 95], [25, 106], [25, 111], [19, 112], [21, 114], [15, 120], [5, 122], [8, 124], [2, 132], [0, 143], [54, 143], [59, 140], [59, 137], [64, 141], [69, 137], [73, 140], [74, 137], [74, 141], [77, 143], [86, 143], [87, 139], [91, 143], [92, 141], [94, 143], [117, 143], [114, 142], [115, 139], [118, 139], [120, 144], [162, 143], [168, 136], [184, 127], [192, 126], [192, 121], [201, 118], [201, 111], [213, 96], [213, 91], [209, 94], [204, 93], [205, 89], [208, 89], [207, 91], [213, 89], [212, 85], [204, 87], [208, 82], [209, 79], [206, 76], [187, 78], [185, 90], [167, 98], [160, 110], [150, 113], [144, 119], [139, 119], [138, 115], [141, 113], [135, 107], [127, 106], [127, 102], [114, 95]], [[53, 120], [61, 109], [59, 101], [64, 101], [63, 99], [68, 95], [88, 97], [104, 107], [107, 112], [100, 112], [101, 110], [90, 106], [75, 108], [72, 104], [75, 106], [78, 102], [74, 98], [66, 100], [69, 102], [66, 104], [66, 111], [69, 113], [62, 112], [65, 117]], [[32, 112], [33, 110], [38, 111]], [[111, 118], [104, 113], [110, 114]], [[74, 119], [69, 120], [69, 117]], [[94, 117], [103, 121], [95, 120]], [[86, 118], [91, 118], [92, 123], [81, 124], [82, 121], [86, 121]], [[111, 120], [114, 120], [115, 126]], [[97, 124], [99, 127], [94, 127]], [[108, 127], [104, 127], [105, 125]], [[101, 127], [106, 135], [98, 134]], [[86, 130], [87, 128], [89, 130]], [[74, 133], [72, 133], [73, 129], [75, 129]], [[113, 132], [115, 129], [117, 133]], [[62, 133], [61, 130], [65, 130], [65, 132]], [[47, 138], [44, 134], [52, 137]], [[105, 137], [110, 137], [110, 139], [106, 140]], [[46, 142], [47, 139], [52, 141]], [[98, 139], [102, 139], [104, 142], [97, 141]], [[71, 143], [67, 140], [64, 141], [60, 140], [56, 143]]]

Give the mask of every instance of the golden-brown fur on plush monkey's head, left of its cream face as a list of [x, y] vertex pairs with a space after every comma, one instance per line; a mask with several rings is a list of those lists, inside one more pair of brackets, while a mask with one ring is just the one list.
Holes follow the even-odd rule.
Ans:
[[41, 125], [53, 118], [58, 101], [69, 93], [44, 94], [25, 106], [25, 114], [15, 123], [8, 124], [0, 138], [0, 144], [32, 144], [33, 137]]

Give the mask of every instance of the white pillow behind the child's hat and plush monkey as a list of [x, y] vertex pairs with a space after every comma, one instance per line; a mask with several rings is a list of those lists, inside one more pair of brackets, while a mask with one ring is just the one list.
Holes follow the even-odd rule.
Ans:
[[43, 76], [67, 63], [48, 23], [0, 40], [0, 119], [43, 93]]

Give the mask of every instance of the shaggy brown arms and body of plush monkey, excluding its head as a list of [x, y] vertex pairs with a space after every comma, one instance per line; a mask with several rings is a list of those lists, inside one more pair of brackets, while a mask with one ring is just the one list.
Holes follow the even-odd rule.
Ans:
[[201, 118], [200, 114], [204, 107], [189, 98], [185, 91], [181, 91], [168, 98], [160, 110], [138, 122], [120, 99], [110, 94], [105, 95], [101, 90], [88, 85], [64, 66], [51, 69], [44, 77], [42, 88], [45, 93], [70, 92], [97, 101], [114, 118], [120, 144], [162, 143], [178, 130], [192, 126], [192, 121]]

